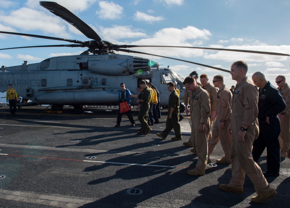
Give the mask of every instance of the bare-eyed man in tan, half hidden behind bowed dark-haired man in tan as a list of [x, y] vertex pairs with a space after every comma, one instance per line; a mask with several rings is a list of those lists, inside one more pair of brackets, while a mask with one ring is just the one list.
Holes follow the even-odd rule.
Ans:
[[[210, 99], [211, 99], [211, 116], [209, 117], [210, 118], [210, 129], [213, 125], [213, 117], [215, 116], [215, 111], [217, 109], [217, 89], [215, 87], [213, 87], [213, 85], [211, 85], [209, 83], [209, 77], [207, 76], [207, 74], [202, 74], [200, 75], [200, 83], [202, 84], [202, 89], [205, 89], [208, 93], [209, 93], [209, 96], [210, 96]], [[211, 139], [211, 131], [209, 132], [209, 138], [208, 138], [208, 141]]]

